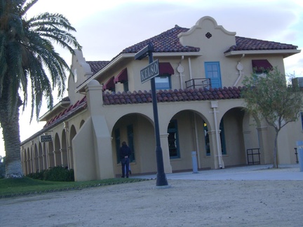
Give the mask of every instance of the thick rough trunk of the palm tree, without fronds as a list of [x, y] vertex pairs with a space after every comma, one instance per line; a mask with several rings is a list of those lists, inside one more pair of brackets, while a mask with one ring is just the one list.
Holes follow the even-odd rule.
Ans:
[[[4, 136], [4, 147], [6, 150], [6, 178], [23, 177], [20, 157], [20, 128], [19, 128], [19, 106], [15, 109], [13, 117], [8, 117], [7, 103], [0, 102], [0, 123]], [[19, 102], [20, 99], [19, 99]]]

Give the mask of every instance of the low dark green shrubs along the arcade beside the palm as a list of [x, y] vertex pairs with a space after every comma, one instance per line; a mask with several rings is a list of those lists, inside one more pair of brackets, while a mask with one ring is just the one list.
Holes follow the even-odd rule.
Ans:
[[74, 181], [74, 170], [56, 166], [50, 167], [48, 170], [28, 174], [27, 177], [44, 181]]

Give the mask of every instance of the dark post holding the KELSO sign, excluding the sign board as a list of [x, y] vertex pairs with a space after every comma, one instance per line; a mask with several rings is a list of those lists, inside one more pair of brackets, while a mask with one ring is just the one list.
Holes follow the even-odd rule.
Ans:
[[[135, 54], [135, 60], [142, 60], [144, 57], [149, 57], [149, 65], [154, 62], [153, 59], [154, 46], [149, 43], [147, 46], [142, 48], [138, 53]], [[159, 65], [158, 65], [159, 74]], [[158, 75], [155, 74], [155, 75]], [[166, 179], [166, 174], [164, 172], [163, 165], [163, 155], [160, 142], [160, 132], [159, 132], [159, 118], [158, 118], [158, 106], [156, 99], [156, 84], [154, 76], [151, 78], [151, 88], [152, 88], [152, 105], [154, 111], [154, 130], [156, 137], [156, 164], [157, 164], [157, 174], [156, 174], [156, 186], [168, 186], [168, 181]]]

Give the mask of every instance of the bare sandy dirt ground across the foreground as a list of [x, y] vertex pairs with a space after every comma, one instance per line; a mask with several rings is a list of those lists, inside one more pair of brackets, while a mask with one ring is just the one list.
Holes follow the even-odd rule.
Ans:
[[0, 199], [0, 226], [302, 226], [303, 181], [156, 180]]

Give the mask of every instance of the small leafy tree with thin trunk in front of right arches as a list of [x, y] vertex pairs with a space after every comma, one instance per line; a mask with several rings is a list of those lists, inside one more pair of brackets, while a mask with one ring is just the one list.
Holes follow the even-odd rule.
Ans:
[[303, 107], [303, 95], [298, 86], [286, 83], [285, 75], [277, 68], [263, 75], [246, 76], [242, 95], [248, 112], [265, 119], [276, 132], [273, 158], [274, 168], [278, 168], [278, 133], [288, 123], [297, 121]]

